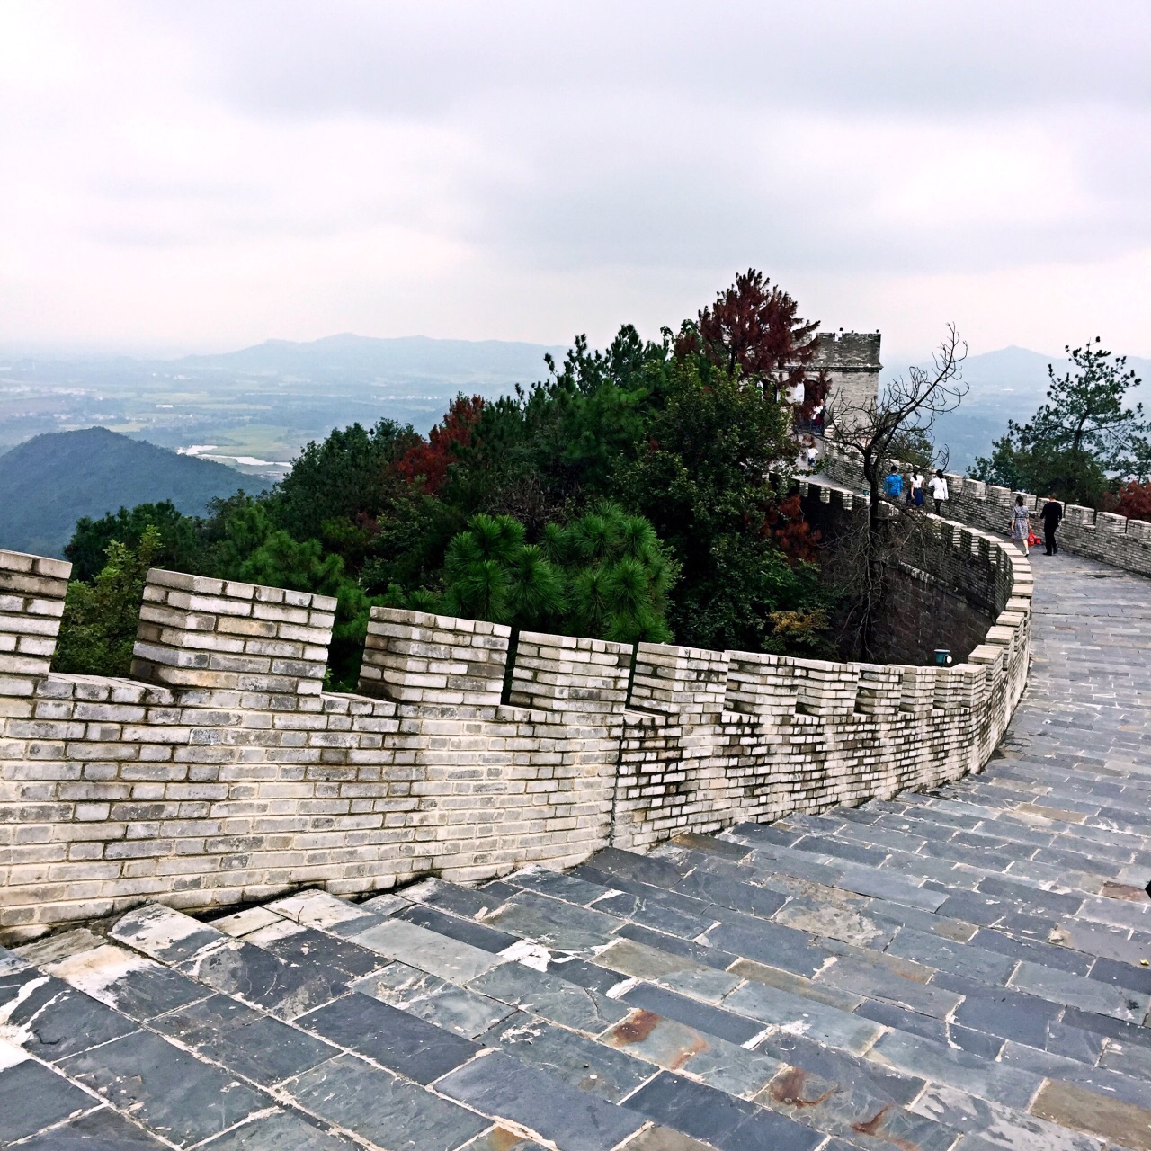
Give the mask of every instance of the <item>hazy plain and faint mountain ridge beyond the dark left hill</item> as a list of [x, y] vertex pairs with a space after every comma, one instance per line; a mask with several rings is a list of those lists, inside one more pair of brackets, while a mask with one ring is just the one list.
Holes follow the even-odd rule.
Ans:
[[270, 340], [219, 356], [0, 358], [0, 449], [99, 424], [275, 479], [310, 440], [381, 417], [427, 432], [459, 391], [495, 397], [565, 349], [498, 340]]

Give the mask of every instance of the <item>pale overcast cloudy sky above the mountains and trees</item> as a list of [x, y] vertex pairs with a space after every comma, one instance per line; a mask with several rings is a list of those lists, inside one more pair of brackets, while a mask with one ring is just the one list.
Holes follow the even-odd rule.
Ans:
[[0, 0], [0, 344], [603, 342], [748, 266], [1151, 355], [1151, 3]]

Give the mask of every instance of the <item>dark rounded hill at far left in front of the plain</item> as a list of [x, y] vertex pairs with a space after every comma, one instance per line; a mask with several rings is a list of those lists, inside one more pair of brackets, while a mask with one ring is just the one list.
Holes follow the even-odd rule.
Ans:
[[49, 432], [0, 456], [0, 548], [62, 556], [81, 516], [170, 500], [199, 514], [209, 500], [266, 481], [107, 428]]

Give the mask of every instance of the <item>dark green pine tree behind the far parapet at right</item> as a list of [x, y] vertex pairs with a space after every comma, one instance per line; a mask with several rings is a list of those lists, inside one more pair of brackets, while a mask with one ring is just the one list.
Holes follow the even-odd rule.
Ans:
[[1066, 375], [1047, 367], [1047, 402], [1028, 422], [1008, 422], [991, 455], [975, 460], [976, 479], [1103, 506], [1125, 481], [1151, 478], [1151, 427], [1142, 405], [1127, 402], [1141, 381], [1127, 357], [1098, 344], [1097, 336], [1095, 345], [1067, 348], [1074, 371]]

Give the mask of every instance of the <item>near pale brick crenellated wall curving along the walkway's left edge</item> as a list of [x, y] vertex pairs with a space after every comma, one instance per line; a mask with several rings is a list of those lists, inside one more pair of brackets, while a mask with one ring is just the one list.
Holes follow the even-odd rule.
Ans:
[[330, 599], [165, 571], [134, 678], [54, 673], [68, 565], [0, 551], [0, 939], [564, 866], [978, 770], [1023, 689], [1030, 569], [932, 523], [994, 589], [959, 666], [521, 633], [508, 674], [505, 627], [374, 609], [358, 694], [322, 689]]

